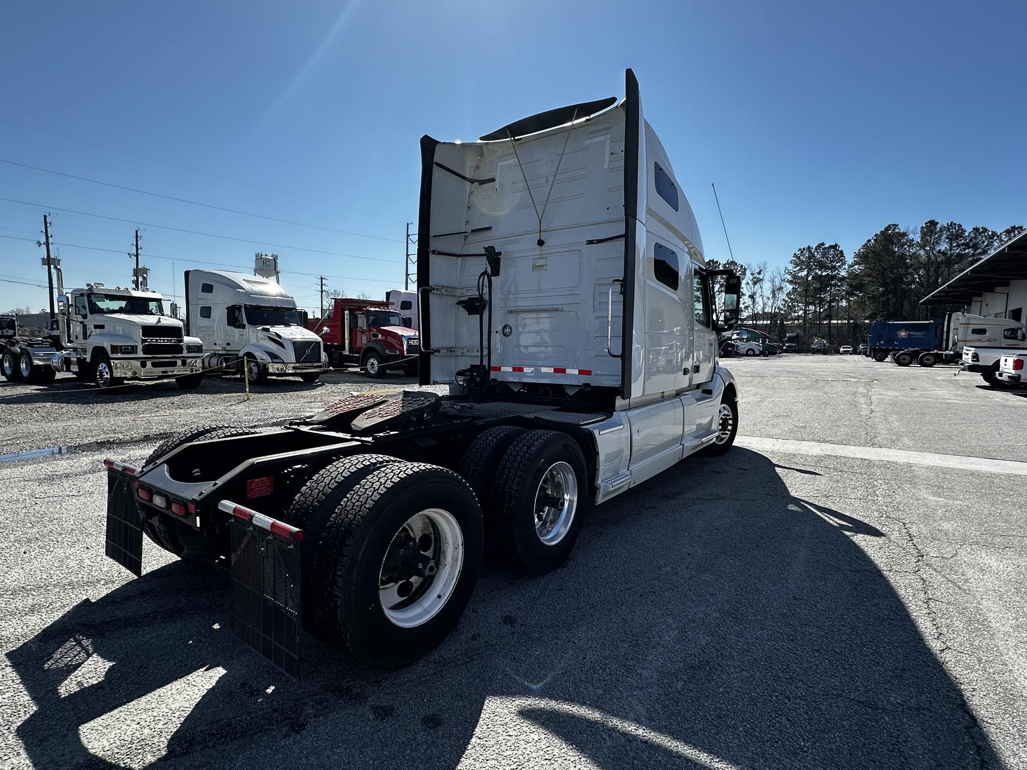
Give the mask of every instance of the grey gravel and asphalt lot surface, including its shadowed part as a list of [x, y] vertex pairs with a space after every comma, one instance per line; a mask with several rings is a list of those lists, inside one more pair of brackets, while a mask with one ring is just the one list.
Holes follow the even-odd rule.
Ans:
[[[294, 684], [232, 639], [220, 578], [105, 559], [111, 453], [0, 465], [0, 767], [1027, 768], [1027, 402], [854, 356], [727, 365], [734, 450], [597, 508], [554, 574], [487, 564], [456, 632], [396, 671], [307, 637]], [[5, 385], [4, 451], [404, 382]]]

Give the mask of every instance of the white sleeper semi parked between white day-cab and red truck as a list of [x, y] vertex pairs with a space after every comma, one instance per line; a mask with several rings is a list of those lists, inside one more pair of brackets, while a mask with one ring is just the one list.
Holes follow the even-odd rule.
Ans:
[[244, 372], [250, 382], [291, 375], [316, 382], [329, 368], [324, 345], [306, 328], [296, 300], [268, 278], [187, 270], [186, 328], [203, 341], [205, 368]]

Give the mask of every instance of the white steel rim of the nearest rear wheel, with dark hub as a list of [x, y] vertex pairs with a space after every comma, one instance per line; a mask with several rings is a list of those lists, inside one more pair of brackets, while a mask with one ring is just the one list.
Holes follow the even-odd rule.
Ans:
[[[403, 555], [405, 546], [430, 560], [431, 569]], [[448, 510], [426, 508], [408, 518], [385, 549], [378, 571], [378, 599], [389, 622], [416, 628], [438, 615], [460, 579], [464, 547], [463, 530]]]

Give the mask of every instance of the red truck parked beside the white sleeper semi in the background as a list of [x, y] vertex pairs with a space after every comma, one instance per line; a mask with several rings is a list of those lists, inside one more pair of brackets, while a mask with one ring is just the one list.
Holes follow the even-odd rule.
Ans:
[[310, 321], [333, 367], [357, 364], [373, 378], [392, 368], [417, 374], [420, 338], [391, 304], [337, 297], [324, 318]]

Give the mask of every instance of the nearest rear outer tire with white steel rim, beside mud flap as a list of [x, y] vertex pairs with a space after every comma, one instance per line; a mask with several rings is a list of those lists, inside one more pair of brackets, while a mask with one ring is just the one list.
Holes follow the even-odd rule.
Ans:
[[342, 500], [322, 537], [332, 567], [318, 585], [330, 594], [322, 632], [377, 668], [423, 657], [470, 601], [483, 540], [478, 501], [456, 473], [425, 463], [378, 469]]

